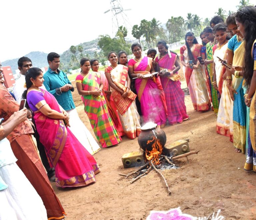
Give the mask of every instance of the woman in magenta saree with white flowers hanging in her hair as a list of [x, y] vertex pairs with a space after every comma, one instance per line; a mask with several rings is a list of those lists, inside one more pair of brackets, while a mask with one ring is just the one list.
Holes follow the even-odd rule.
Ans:
[[164, 89], [167, 105], [167, 119], [169, 124], [182, 123], [189, 119], [184, 102], [184, 92], [180, 85], [180, 76], [178, 70], [180, 64], [177, 54], [171, 53], [165, 41], [157, 43], [159, 56], [156, 58], [156, 63], [160, 70], [167, 69], [166, 73], [160, 74], [161, 83]]

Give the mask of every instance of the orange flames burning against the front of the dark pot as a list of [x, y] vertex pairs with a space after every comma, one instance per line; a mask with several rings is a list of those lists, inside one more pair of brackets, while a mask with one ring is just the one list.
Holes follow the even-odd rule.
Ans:
[[152, 144], [152, 150], [148, 151], [146, 149], [145, 155], [148, 161], [152, 160], [152, 162], [157, 165], [159, 164], [159, 155], [162, 153], [163, 147], [156, 137], [153, 137], [152, 140], [148, 140], [147, 144], [150, 144], [153, 141], [154, 143]]

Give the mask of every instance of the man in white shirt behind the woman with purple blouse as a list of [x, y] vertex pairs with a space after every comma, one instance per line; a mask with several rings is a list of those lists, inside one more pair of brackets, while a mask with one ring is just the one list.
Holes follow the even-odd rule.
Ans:
[[[18, 103], [20, 103], [20, 101], [22, 100], [22, 94], [26, 89], [24, 87], [26, 82], [25, 80], [26, 73], [32, 67], [33, 67], [32, 61], [28, 57], [21, 57], [18, 60], [18, 69], [20, 70], [20, 78], [16, 80], [13, 86], [13, 93]], [[44, 85], [41, 88], [46, 90]]]

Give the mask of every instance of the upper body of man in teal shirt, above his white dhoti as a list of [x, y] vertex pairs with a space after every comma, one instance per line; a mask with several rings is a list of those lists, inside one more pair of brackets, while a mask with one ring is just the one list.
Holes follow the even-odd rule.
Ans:
[[49, 69], [44, 74], [44, 86], [57, 99], [58, 103], [65, 111], [75, 108], [71, 91], [74, 87], [71, 85], [67, 75], [59, 70], [60, 55], [49, 53], [47, 56]]

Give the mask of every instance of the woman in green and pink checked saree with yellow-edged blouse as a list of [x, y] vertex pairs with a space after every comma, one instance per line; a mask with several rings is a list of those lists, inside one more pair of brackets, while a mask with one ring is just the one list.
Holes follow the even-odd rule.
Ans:
[[76, 77], [76, 88], [84, 103], [92, 129], [102, 147], [118, 144], [122, 139], [108, 114], [106, 100], [102, 94], [100, 73], [90, 71], [90, 60], [82, 58], [81, 73]]

